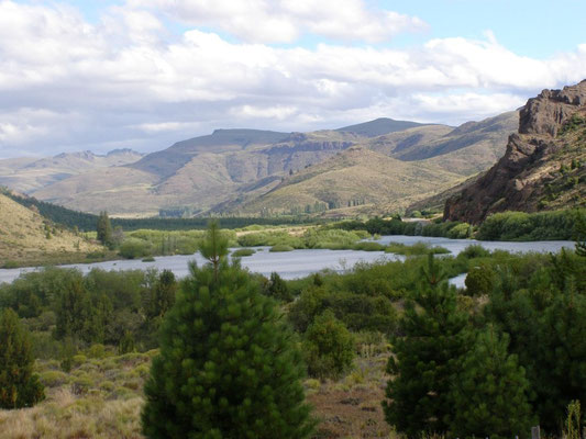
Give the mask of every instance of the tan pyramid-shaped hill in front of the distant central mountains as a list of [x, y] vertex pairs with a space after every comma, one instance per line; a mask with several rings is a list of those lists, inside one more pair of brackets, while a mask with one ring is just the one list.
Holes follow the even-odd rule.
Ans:
[[[406, 162], [352, 147], [334, 157], [287, 177], [266, 194], [233, 209], [239, 214], [316, 213], [333, 210], [384, 213], [447, 188], [460, 176], [424, 164]], [[226, 209], [228, 206], [224, 206]], [[230, 209], [228, 209], [230, 211]]]

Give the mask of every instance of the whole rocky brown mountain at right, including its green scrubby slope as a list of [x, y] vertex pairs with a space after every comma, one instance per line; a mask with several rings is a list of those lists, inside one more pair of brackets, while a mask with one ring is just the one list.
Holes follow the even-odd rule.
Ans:
[[502, 158], [446, 201], [444, 218], [477, 224], [495, 212], [578, 205], [586, 205], [586, 80], [530, 99]]

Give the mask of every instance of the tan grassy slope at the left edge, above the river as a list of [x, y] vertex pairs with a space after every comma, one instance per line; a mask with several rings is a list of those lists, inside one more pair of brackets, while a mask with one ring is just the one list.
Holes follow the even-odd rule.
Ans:
[[84, 257], [102, 249], [0, 194], [0, 267], [7, 262]]

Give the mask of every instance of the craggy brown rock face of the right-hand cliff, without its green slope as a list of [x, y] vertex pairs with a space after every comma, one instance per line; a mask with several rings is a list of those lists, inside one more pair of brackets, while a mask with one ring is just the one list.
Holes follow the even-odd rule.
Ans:
[[[519, 116], [505, 156], [476, 182], [445, 203], [444, 219], [480, 223], [507, 210], [533, 212], [553, 179], [553, 154], [564, 147], [556, 136], [576, 113], [586, 111], [586, 80], [563, 90], [544, 90], [530, 99]], [[559, 164], [557, 164], [559, 167]]]

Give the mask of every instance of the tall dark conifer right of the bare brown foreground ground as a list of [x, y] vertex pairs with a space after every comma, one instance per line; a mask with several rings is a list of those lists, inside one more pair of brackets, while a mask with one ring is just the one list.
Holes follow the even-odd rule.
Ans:
[[424, 282], [408, 302], [392, 337], [387, 372], [385, 418], [398, 431], [416, 437], [447, 431], [451, 381], [471, 346], [467, 316], [456, 308], [456, 293], [434, 259], [422, 270]]

